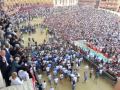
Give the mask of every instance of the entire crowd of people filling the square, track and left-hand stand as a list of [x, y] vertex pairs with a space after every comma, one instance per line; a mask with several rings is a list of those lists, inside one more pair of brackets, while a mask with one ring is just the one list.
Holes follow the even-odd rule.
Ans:
[[[47, 26], [55, 37], [43, 45], [23, 46], [23, 40], [18, 35], [17, 27], [24, 21], [45, 17], [43, 26]], [[110, 63], [95, 59], [100, 70], [109, 70], [120, 77], [120, 31], [119, 16], [109, 11], [89, 7], [68, 6], [58, 8], [38, 7], [28, 12], [18, 12], [11, 17], [0, 11], [0, 70], [6, 86], [20, 85], [29, 78], [34, 78], [33, 71], [45, 72], [48, 81], [56, 87], [59, 80], [69, 78], [72, 90], [75, 89], [80, 75], [78, 70], [83, 60], [79, 49], [71, 41], [86, 40], [96, 47], [111, 48], [117, 58]], [[60, 38], [58, 38], [60, 36]], [[65, 41], [64, 41], [65, 40]], [[28, 54], [26, 54], [28, 53]], [[109, 52], [111, 53], [111, 52]], [[35, 69], [33, 69], [35, 67]], [[51, 73], [52, 72], [52, 73]], [[99, 70], [96, 70], [96, 77]], [[90, 76], [93, 69], [90, 72]], [[88, 66], [85, 67], [84, 81], [88, 79]], [[46, 81], [41, 81], [42, 90], [46, 89]]]

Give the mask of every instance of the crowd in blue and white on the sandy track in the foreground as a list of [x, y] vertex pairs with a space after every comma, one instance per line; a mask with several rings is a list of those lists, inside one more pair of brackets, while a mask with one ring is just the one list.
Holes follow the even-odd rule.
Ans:
[[[83, 80], [80, 82], [84, 83], [87, 82], [88, 78], [97, 80], [100, 75], [99, 68], [94, 70], [88, 65], [83, 68], [81, 64], [84, 63], [84, 59], [79, 48], [58, 36], [51, 39], [52, 42], [32, 45], [32, 60], [36, 66], [36, 71], [40, 73], [40, 90], [46, 90], [48, 84], [52, 88], [50, 90], [57, 89], [64, 80], [71, 82], [72, 90], [75, 90], [76, 84], [80, 80]], [[82, 78], [80, 75], [82, 69], [84, 78], [80, 79]], [[47, 81], [43, 78], [45, 76], [47, 76]]]

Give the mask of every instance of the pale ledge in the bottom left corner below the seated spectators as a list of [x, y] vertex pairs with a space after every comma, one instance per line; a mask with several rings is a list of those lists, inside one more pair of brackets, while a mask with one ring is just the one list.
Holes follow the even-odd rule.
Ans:
[[32, 80], [25, 81], [22, 85], [13, 85], [0, 90], [34, 90]]

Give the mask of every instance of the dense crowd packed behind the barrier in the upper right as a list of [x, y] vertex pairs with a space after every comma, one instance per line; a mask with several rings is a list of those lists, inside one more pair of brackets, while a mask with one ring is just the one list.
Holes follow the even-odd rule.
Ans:
[[104, 68], [119, 77], [119, 15], [90, 7], [62, 9], [60, 13], [47, 17], [44, 25], [68, 41], [86, 40], [88, 44], [102, 48], [108, 59], [114, 57], [110, 63], [103, 64]]

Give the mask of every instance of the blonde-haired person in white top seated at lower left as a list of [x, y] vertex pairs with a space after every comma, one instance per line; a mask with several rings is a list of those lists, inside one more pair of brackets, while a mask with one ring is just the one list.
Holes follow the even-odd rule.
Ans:
[[11, 85], [21, 85], [23, 84], [23, 81], [20, 80], [20, 78], [17, 76], [16, 72], [12, 73], [12, 76], [10, 77]]

